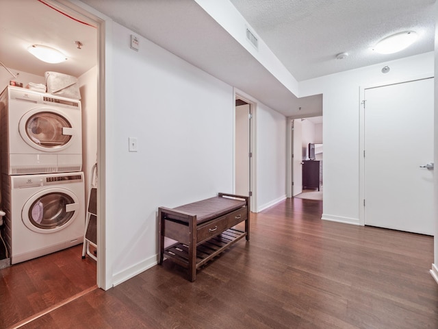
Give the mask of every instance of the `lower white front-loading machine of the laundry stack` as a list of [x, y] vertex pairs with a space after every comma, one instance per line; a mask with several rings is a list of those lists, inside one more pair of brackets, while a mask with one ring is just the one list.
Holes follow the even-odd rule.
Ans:
[[11, 263], [83, 242], [83, 173], [2, 175], [5, 241]]

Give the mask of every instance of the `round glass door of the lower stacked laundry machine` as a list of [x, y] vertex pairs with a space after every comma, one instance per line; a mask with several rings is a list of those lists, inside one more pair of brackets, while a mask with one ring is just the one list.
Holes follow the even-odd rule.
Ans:
[[46, 188], [27, 200], [21, 218], [29, 230], [53, 233], [73, 223], [79, 209], [79, 199], [72, 191]]

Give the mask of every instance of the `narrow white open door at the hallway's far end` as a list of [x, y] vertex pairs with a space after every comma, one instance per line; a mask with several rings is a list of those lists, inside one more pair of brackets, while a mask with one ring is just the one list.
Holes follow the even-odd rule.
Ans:
[[292, 122], [292, 196], [302, 193], [302, 125]]

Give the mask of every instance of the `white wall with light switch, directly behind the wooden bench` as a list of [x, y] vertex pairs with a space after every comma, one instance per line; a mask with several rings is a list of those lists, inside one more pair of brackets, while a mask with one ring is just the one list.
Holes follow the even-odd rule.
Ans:
[[[157, 208], [233, 188], [233, 88], [112, 24], [107, 77], [107, 262], [114, 283], [156, 264]], [[108, 76], [109, 75], [109, 76]], [[138, 138], [138, 152], [128, 138]], [[109, 236], [108, 236], [109, 235]]]

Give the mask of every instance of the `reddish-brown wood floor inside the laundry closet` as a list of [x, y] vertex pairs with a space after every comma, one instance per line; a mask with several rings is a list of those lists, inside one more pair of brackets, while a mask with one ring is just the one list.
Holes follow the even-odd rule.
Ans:
[[82, 245], [0, 269], [0, 328], [56, 306], [94, 287], [96, 262]]

